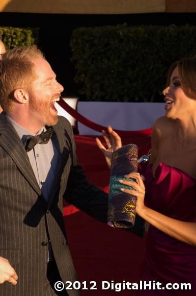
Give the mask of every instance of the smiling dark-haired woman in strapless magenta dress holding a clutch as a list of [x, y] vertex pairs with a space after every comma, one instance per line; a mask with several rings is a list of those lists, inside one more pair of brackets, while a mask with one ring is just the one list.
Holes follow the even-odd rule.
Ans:
[[[138, 295], [196, 295], [196, 58], [182, 59], [169, 70], [163, 90], [165, 116], [155, 121], [149, 163], [122, 181], [134, 190], [136, 213], [149, 223], [141, 280], [190, 283], [191, 290], [140, 290]], [[109, 127], [108, 149], [97, 140], [107, 163], [121, 146]], [[110, 147], [111, 146], [111, 147]], [[175, 285], [174, 288], [177, 288]], [[171, 286], [169, 286], [171, 288]]]

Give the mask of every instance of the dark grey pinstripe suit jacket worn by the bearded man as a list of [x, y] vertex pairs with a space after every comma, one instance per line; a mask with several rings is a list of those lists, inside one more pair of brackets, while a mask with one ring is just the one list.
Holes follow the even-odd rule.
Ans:
[[[46, 204], [18, 134], [5, 114], [0, 115], [0, 256], [18, 275], [16, 286], [0, 285], [1, 296], [54, 295], [46, 277], [48, 235], [62, 280], [77, 279], [66, 240], [63, 198], [106, 221], [107, 194], [89, 184], [77, 165], [69, 122], [60, 116], [54, 132], [61, 160]], [[77, 290], [68, 293], [78, 295]]]

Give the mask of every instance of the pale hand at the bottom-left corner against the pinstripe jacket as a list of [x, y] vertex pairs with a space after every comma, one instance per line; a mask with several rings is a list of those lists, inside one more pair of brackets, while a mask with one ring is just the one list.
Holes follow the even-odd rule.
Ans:
[[9, 282], [12, 285], [17, 284], [18, 276], [14, 268], [10, 265], [9, 261], [3, 257], [0, 257], [0, 284]]

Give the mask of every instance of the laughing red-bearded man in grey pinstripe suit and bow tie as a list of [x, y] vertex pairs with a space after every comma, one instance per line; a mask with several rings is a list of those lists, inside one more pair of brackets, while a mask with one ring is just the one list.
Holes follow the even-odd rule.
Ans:
[[[66, 240], [65, 198], [106, 221], [107, 194], [77, 164], [69, 122], [54, 102], [63, 86], [36, 46], [0, 61], [0, 295], [56, 295], [77, 279]], [[78, 295], [63, 290], [61, 295]]]

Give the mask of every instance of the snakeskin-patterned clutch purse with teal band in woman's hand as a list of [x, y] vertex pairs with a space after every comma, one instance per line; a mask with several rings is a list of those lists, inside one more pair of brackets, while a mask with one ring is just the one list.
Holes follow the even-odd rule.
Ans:
[[135, 144], [128, 144], [112, 155], [107, 220], [111, 227], [131, 228], [137, 235], [142, 236], [144, 223], [142, 218], [135, 215], [135, 196], [122, 192], [120, 188], [131, 187], [119, 182], [126, 179], [125, 175], [137, 171], [137, 151]]

